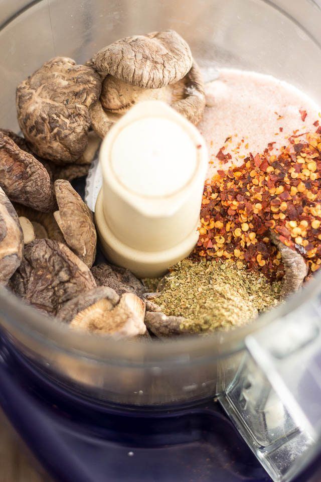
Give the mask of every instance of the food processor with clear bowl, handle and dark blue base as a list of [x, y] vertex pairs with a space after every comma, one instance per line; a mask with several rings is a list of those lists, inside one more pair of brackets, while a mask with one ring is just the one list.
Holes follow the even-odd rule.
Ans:
[[[2, 0], [1, 126], [19, 132], [16, 86], [51, 57], [166, 29], [205, 81], [255, 70], [321, 104], [320, 22], [319, 0]], [[62, 482], [316, 482], [320, 281], [243, 328], [152, 343], [71, 331], [2, 289], [0, 405]]]

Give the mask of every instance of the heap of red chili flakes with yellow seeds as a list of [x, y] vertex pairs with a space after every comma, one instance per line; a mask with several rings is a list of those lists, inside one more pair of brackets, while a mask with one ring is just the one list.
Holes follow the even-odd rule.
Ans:
[[[235, 259], [272, 279], [284, 274], [269, 229], [296, 249], [310, 272], [321, 265], [321, 126], [295, 132], [273, 154], [249, 154], [240, 167], [218, 171], [206, 183], [194, 256]], [[220, 151], [221, 153], [222, 151]], [[219, 155], [221, 155], [219, 153]]]

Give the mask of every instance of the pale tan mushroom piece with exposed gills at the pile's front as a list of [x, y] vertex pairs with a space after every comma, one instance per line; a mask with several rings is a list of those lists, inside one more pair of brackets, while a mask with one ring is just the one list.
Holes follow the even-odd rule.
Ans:
[[132, 337], [145, 333], [144, 315], [144, 302], [133, 293], [124, 293], [114, 308], [108, 311], [104, 300], [100, 300], [80, 311], [70, 326], [92, 333]]

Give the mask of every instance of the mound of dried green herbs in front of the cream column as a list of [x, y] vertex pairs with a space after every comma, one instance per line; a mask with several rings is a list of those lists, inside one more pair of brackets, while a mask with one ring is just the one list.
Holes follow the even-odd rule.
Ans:
[[184, 316], [191, 332], [228, 330], [253, 321], [258, 311], [277, 304], [280, 282], [236, 263], [183, 260], [161, 282], [154, 302], [168, 316]]

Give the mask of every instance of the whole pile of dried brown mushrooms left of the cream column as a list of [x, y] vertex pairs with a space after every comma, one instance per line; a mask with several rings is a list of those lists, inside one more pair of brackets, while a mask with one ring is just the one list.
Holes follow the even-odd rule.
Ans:
[[202, 117], [202, 76], [174, 31], [118, 40], [86, 65], [49, 60], [17, 87], [23, 137], [0, 129], [0, 284], [74, 329], [141, 336], [158, 310], [128, 270], [93, 266], [93, 213], [71, 185], [117, 119], [150, 99]]

